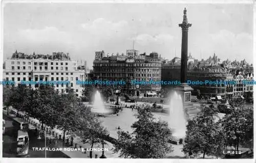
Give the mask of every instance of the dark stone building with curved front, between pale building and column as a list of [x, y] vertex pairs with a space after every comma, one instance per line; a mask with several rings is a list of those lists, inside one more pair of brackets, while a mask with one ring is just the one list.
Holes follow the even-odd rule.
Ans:
[[[103, 52], [103, 51], [102, 51]], [[102, 53], [101, 52], [101, 53]], [[104, 52], [103, 52], [104, 53]], [[95, 52], [93, 71], [95, 79], [109, 81], [125, 81], [125, 85], [114, 85], [115, 89], [121, 89], [122, 93], [130, 96], [156, 95], [161, 89], [157, 84], [132, 84], [136, 81], [160, 81], [161, 61], [156, 52], [150, 55], [138, 54], [136, 50], [127, 50], [126, 55], [117, 54], [106, 57], [99, 56]]]

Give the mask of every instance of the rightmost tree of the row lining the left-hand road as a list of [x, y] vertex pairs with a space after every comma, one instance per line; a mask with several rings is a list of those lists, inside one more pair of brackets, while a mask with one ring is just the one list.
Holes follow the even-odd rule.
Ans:
[[[80, 137], [82, 142], [90, 143], [91, 148], [95, 143], [102, 142], [103, 136], [108, 131], [102, 126], [101, 122], [88, 109], [84, 108], [78, 117], [79, 123], [76, 125], [76, 135]], [[90, 151], [92, 158], [92, 151]]]

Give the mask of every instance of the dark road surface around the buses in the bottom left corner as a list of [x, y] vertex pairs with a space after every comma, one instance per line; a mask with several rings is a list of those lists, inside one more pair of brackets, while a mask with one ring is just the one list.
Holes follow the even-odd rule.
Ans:
[[3, 135], [3, 157], [31, 157], [31, 158], [69, 158], [61, 151], [33, 151], [32, 147], [45, 147], [45, 139], [37, 139], [32, 130], [29, 131], [29, 153], [26, 156], [16, 156], [16, 139], [12, 134], [12, 120], [3, 114], [6, 131]]

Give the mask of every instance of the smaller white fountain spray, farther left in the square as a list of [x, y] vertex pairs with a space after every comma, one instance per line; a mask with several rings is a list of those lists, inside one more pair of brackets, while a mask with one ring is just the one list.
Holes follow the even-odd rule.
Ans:
[[92, 105], [91, 112], [98, 113], [98, 114], [111, 114], [113, 111], [105, 107], [100, 92], [97, 90], [94, 95], [94, 102]]

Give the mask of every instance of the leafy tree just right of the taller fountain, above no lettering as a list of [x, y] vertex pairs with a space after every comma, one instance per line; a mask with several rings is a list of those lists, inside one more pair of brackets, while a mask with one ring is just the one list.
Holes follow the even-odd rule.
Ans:
[[218, 148], [223, 145], [223, 131], [215, 122], [216, 108], [203, 107], [193, 120], [188, 120], [183, 152], [195, 157], [203, 154], [218, 156]]

